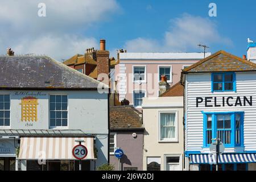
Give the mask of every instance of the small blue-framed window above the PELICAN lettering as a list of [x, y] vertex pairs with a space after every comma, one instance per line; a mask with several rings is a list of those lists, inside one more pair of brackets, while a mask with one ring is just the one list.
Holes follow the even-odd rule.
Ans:
[[212, 92], [236, 91], [235, 73], [212, 73]]

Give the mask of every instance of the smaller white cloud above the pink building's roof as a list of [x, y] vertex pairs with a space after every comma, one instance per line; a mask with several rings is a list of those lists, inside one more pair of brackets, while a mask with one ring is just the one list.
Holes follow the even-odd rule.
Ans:
[[170, 24], [162, 40], [136, 38], [128, 40], [124, 47], [129, 52], [186, 52], [195, 51], [197, 44], [232, 45], [229, 38], [218, 33], [216, 22], [208, 18], [183, 14], [171, 19]]

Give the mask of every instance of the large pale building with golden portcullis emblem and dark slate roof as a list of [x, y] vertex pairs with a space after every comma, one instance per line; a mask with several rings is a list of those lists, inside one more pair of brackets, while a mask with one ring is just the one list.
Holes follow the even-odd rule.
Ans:
[[[73, 171], [108, 163], [108, 93], [46, 56], [0, 57], [0, 171]], [[108, 86], [106, 86], [108, 88]]]

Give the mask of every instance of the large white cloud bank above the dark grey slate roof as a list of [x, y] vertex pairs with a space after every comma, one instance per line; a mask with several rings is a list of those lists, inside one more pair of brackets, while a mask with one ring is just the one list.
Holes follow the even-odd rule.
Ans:
[[[38, 16], [40, 2], [46, 4], [46, 17]], [[57, 60], [84, 53], [99, 44], [86, 30], [119, 9], [116, 0], [1, 0], [0, 53], [11, 47], [15, 53], [43, 53]]]

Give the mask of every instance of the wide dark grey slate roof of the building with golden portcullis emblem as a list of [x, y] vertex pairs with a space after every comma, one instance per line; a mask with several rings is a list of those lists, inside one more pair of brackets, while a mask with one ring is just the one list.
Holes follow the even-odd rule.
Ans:
[[0, 56], [0, 88], [85, 89], [100, 83], [48, 56]]

